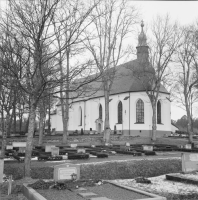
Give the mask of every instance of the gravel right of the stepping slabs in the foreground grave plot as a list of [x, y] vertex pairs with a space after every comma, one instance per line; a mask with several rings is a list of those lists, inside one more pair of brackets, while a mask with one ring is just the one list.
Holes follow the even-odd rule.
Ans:
[[86, 187], [86, 189], [99, 194], [101, 197], [107, 197], [112, 200], [135, 200], [149, 198], [146, 195], [123, 189], [109, 183], [95, 187]]

